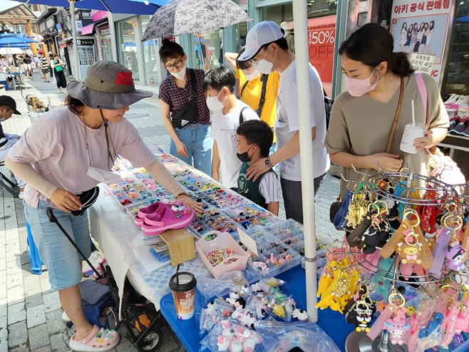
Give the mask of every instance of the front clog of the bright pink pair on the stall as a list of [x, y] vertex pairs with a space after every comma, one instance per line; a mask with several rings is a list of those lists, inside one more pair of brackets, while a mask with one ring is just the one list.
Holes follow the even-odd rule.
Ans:
[[175, 202], [172, 207], [163, 207], [158, 213], [145, 217], [142, 230], [148, 236], [160, 234], [167, 229], [182, 229], [192, 222], [194, 212], [182, 202]]

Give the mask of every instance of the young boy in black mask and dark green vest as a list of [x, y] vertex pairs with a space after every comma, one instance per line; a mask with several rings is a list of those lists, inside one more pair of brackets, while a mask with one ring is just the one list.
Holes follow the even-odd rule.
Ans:
[[272, 128], [262, 120], [249, 120], [237, 128], [237, 157], [242, 161], [238, 177], [238, 193], [264, 207], [274, 215], [279, 214], [279, 187], [277, 174], [269, 169], [255, 181], [247, 180], [247, 168], [261, 157], [269, 156], [274, 140]]

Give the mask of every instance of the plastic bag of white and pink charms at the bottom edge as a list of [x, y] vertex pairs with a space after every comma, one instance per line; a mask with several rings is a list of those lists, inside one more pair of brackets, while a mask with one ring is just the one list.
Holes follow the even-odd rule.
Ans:
[[[235, 321], [225, 320], [218, 323], [210, 333], [200, 341], [212, 352], [263, 352], [259, 333]], [[329, 352], [329, 351], [328, 351]]]

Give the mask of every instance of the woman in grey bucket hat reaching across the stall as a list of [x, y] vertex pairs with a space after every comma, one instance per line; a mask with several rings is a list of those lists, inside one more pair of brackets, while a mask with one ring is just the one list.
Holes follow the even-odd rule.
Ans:
[[177, 200], [202, 211], [123, 118], [129, 105], [152, 94], [135, 90], [132, 72], [124, 66], [95, 63], [88, 68], [85, 81], [68, 84], [66, 106], [53, 108], [36, 120], [6, 159], [10, 170], [27, 183], [25, 217], [51, 286], [59, 291], [63, 310], [76, 326], [70, 341], [73, 351], [108, 351], [117, 345], [119, 336], [86, 321], [78, 289], [82, 259], [56, 224], [48, 221], [46, 208], [56, 208], [58, 221], [89, 256], [88, 217], [71, 214], [81, 207], [76, 195], [115, 177], [109, 171], [116, 156], [122, 155], [133, 167], [145, 167]]

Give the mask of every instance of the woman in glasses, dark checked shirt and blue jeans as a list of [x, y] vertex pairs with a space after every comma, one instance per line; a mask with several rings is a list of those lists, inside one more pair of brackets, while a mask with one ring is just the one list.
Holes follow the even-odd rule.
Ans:
[[170, 73], [159, 93], [163, 122], [171, 136], [170, 153], [212, 176], [210, 111], [201, 88], [204, 71], [187, 69], [184, 50], [168, 39], [163, 40], [160, 59]]

